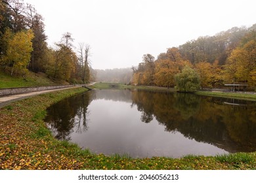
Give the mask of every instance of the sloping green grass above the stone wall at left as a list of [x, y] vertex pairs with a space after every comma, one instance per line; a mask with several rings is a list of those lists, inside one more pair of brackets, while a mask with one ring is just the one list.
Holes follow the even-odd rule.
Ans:
[[28, 86], [54, 86], [56, 82], [43, 73], [29, 72], [26, 77], [11, 76], [0, 70], [0, 88], [20, 88]]

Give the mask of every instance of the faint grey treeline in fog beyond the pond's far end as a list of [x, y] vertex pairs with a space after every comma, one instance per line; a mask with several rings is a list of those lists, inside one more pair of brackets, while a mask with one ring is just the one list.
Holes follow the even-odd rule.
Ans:
[[131, 68], [123, 69], [95, 69], [97, 82], [119, 82], [130, 84], [133, 72]]

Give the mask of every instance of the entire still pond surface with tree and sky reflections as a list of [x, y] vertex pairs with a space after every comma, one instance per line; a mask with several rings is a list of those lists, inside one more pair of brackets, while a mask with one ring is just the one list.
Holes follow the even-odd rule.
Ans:
[[255, 102], [189, 93], [93, 90], [48, 108], [57, 139], [131, 157], [256, 151]]

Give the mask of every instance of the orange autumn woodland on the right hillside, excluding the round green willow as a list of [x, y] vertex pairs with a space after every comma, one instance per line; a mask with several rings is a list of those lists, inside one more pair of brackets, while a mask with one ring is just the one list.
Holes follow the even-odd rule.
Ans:
[[199, 37], [154, 58], [144, 54], [133, 67], [133, 84], [174, 87], [184, 67], [194, 69], [202, 88], [247, 84], [256, 90], [256, 24], [233, 27], [214, 36]]

